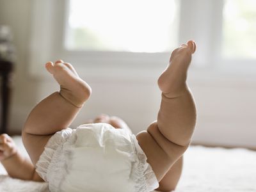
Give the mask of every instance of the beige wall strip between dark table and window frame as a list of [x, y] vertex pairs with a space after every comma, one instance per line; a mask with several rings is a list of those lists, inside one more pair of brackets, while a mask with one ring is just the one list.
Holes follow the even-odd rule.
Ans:
[[28, 75], [28, 42], [31, 1], [0, 1], [0, 24], [8, 24], [13, 31], [17, 50], [15, 80], [13, 82], [10, 128], [20, 130], [31, 107], [35, 104], [38, 81]]

